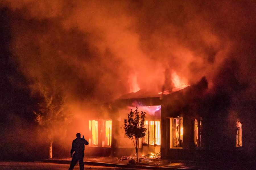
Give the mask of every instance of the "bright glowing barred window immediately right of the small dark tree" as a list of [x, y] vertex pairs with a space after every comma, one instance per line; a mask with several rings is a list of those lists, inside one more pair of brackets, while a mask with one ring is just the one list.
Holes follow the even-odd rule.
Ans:
[[[148, 129], [144, 137], [143, 144], [147, 145], [161, 145], [161, 130], [160, 130], [160, 121], [148, 121], [144, 122], [145, 128]], [[149, 139], [148, 139], [149, 138]]]

